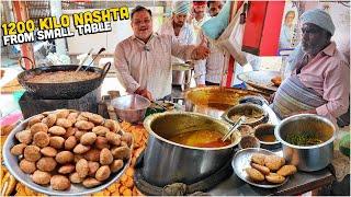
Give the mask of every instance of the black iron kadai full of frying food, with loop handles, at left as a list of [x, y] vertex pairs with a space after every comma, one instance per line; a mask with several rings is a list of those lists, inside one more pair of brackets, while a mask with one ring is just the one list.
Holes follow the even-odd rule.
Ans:
[[22, 67], [24, 71], [18, 76], [18, 80], [26, 91], [41, 99], [79, 99], [101, 85], [110, 67], [111, 62], [102, 69], [82, 66], [78, 72], [75, 72], [78, 65], [38, 67], [30, 70]]

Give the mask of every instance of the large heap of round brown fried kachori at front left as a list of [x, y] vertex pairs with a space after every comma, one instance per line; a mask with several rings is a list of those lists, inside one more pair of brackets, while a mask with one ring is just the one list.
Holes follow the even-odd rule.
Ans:
[[10, 152], [36, 184], [67, 190], [71, 183], [94, 187], [123, 169], [133, 137], [98, 114], [58, 109], [32, 117], [15, 134]]

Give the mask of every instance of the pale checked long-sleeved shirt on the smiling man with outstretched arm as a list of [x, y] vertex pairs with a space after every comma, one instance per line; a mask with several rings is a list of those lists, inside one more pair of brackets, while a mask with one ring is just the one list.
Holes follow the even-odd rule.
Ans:
[[128, 93], [147, 89], [155, 100], [171, 94], [171, 56], [190, 59], [195, 46], [181, 45], [170, 35], [154, 34], [145, 44], [135, 36], [122, 40], [114, 62], [120, 81]]

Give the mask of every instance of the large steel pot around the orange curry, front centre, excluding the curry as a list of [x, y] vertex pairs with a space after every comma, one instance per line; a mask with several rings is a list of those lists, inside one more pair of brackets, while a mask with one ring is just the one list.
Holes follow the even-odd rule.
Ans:
[[222, 148], [195, 148], [168, 140], [170, 137], [192, 130], [212, 129], [226, 134], [227, 123], [186, 112], [154, 114], [144, 120], [149, 132], [144, 155], [143, 176], [157, 186], [181, 182], [195, 183], [219, 170], [234, 155], [234, 147], [241, 137], [231, 136], [233, 143]]

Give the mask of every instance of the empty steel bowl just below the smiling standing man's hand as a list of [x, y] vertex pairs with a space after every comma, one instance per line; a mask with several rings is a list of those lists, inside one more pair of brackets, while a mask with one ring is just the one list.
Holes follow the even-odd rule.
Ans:
[[113, 99], [111, 105], [122, 120], [138, 123], [144, 119], [146, 109], [151, 105], [151, 102], [144, 96], [129, 94]]

